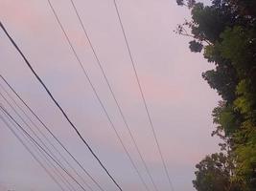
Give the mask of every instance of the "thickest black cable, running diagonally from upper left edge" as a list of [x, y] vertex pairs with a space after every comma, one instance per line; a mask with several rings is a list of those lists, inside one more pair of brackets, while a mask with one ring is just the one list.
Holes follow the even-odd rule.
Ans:
[[42, 81], [42, 79], [35, 73], [35, 70], [33, 69], [32, 65], [30, 64], [30, 62], [27, 60], [27, 58], [25, 57], [25, 55], [20, 51], [20, 49], [18, 48], [18, 46], [16, 45], [16, 43], [13, 41], [12, 37], [10, 36], [10, 34], [6, 31], [5, 27], [3, 26], [2, 22], [0, 22], [0, 27], [2, 28], [2, 30], [6, 33], [6, 35], [8, 36], [8, 38], [11, 40], [12, 45], [14, 46], [14, 48], [18, 51], [18, 53], [21, 54], [22, 58], [24, 59], [24, 61], [26, 62], [27, 66], [30, 68], [30, 70], [33, 72], [33, 74], [35, 75], [36, 79], [39, 81], [39, 83], [43, 86], [44, 90], [47, 92], [47, 94], [51, 97], [51, 99], [54, 101], [54, 103], [57, 105], [59, 111], [61, 112], [61, 114], [63, 115], [63, 117], [66, 118], [66, 120], [68, 121], [68, 123], [72, 126], [72, 128], [75, 130], [75, 132], [78, 134], [79, 138], [81, 138], [81, 141], [85, 144], [85, 146], [89, 149], [90, 153], [93, 155], [93, 157], [95, 159], [97, 159], [97, 161], [100, 163], [100, 165], [104, 168], [105, 173], [107, 174], [107, 176], [114, 182], [114, 184], [119, 188], [120, 191], [122, 191], [122, 188], [120, 187], [120, 185], [117, 183], [116, 180], [114, 180], [114, 178], [110, 175], [109, 171], [105, 168], [105, 165], [103, 164], [103, 162], [97, 157], [97, 155], [94, 153], [94, 151], [92, 150], [92, 148], [90, 147], [90, 145], [86, 142], [86, 140], [84, 138], [81, 137], [81, 133], [79, 132], [78, 128], [75, 126], [75, 124], [71, 121], [71, 119], [66, 115], [66, 113], [64, 112], [64, 110], [61, 108], [61, 106], [58, 104], [58, 101], [55, 99], [55, 97], [51, 94], [51, 92], [49, 91], [49, 89], [46, 87], [46, 85], [44, 84], [44, 82]]

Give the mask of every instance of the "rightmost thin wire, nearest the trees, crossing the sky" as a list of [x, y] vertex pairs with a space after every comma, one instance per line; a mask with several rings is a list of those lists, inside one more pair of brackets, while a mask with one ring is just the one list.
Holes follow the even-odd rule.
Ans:
[[142, 87], [141, 87], [140, 79], [139, 79], [139, 76], [138, 76], [138, 73], [137, 73], [137, 70], [136, 70], [136, 67], [135, 67], [135, 63], [134, 63], [134, 59], [133, 59], [132, 53], [131, 53], [130, 48], [129, 48], [127, 34], [126, 34], [126, 31], [125, 31], [125, 28], [124, 28], [124, 25], [123, 25], [123, 22], [122, 22], [122, 19], [121, 19], [121, 15], [120, 15], [120, 12], [119, 12], [116, 0], [113, 0], [113, 3], [114, 3], [115, 10], [116, 10], [116, 13], [117, 13], [117, 16], [118, 16], [118, 20], [119, 20], [119, 23], [120, 23], [120, 26], [121, 26], [121, 30], [123, 32], [123, 35], [124, 35], [124, 38], [125, 38], [125, 41], [126, 41], [126, 45], [127, 45], [127, 49], [128, 49], [128, 55], [129, 55], [129, 59], [130, 59], [131, 64], [132, 64], [133, 72], [135, 74], [135, 78], [136, 78], [136, 81], [137, 81], [137, 84], [138, 84], [138, 87], [139, 87], [139, 91], [140, 91], [140, 94], [141, 94], [142, 99], [143, 99], [144, 107], [146, 109], [147, 116], [148, 116], [150, 124], [151, 124], [151, 131], [152, 131], [152, 134], [153, 134], [153, 138], [155, 139], [155, 142], [156, 142], [156, 145], [157, 145], [157, 149], [158, 149], [159, 155], [161, 157], [161, 160], [162, 160], [162, 163], [163, 163], [163, 166], [164, 166], [164, 170], [165, 170], [165, 174], [166, 174], [167, 179], [169, 181], [170, 187], [171, 187], [172, 190], [174, 190], [173, 183], [172, 183], [172, 180], [170, 178], [170, 175], [169, 175], [169, 172], [168, 172], [168, 169], [167, 169], [167, 165], [166, 165], [165, 159], [163, 157], [163, 154], [162, 154], [162, 151], [161, 151], [158, 139], [156, 137], [154, 126], [152, 124], [149, 107], [148, 107], [146, 98], [144, 96], [144, 93], [143, 93], [143, 90], [142, 90]]

